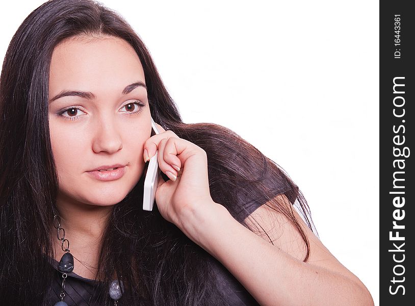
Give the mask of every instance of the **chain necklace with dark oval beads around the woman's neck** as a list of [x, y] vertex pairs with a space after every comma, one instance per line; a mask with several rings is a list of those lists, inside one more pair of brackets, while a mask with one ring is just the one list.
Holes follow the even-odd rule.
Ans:
[[[61, 300], [58, 301], [55, 306], [68, 306], [66, 302], [63, 301], [65, 297], [65, 280], [68, 276], [67, 273], [73, 271], [73, 256], [69, 251], [69, 240], [65, 238], [65, 230], [61, 227], [61, 219], [59, 216], [54, 215], [54, 227], [57, 229], [58, 239], [62, 241], [62, 250], [66, 252], [63, 254], [61, 260], [59, 261], [58, 269], [62, 272], [62, 290], [61, 290]], [[114, 300], [114, 306], [117, 306], [118, 300], [121, 298], [122, 293], [124, 292], [124, 285], [122, 281], [118, 283], [118, 279], [114, 279], [109, 287], [110, 297]]]

